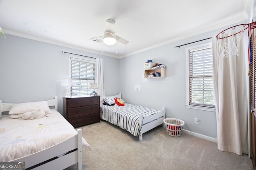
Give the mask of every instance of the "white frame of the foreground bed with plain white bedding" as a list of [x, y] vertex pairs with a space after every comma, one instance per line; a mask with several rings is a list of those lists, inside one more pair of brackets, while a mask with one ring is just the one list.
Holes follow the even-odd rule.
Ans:
[[[58, 110], [58, 98], [57, 96], [48, 100], [49, 107], [52, 106], [54, 109]], [[4, 111], [10, 111], [14, 104], [2, 103], [0, 100], [0, 118], [9, 116], [2, 115]], [[57, 157], [58, 155], [64, 154], [74, 150], [64, 156]], [[12, 162], [25, 162], [26, 169], [33, 170], [51, 170], [51, 169], [65, 169], [73, 164], [77, 163], [78, 170], [82, 170], [82, 130], [77, 129], [77, 134], [61, 143], [58, 143], [52, 147], [41, 150], [39, 152], [24, 156], [12, 160]], [[39, 166], [38, 166], [39, 165]]]

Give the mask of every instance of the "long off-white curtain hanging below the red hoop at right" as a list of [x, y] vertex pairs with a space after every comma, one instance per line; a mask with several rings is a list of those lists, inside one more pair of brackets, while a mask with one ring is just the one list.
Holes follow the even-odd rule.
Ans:
[[[224, 36], [227, 37], [236, 32], [238, 31], [230, 31]], [[218, 149], [238, 155], [248, 154], [248, 40], [246, 35], [247, 33], [244, 32], [226, 39], [215, 38], [213, 55]], [[232, 49], [234, 53], [228, 54], [226, 51], [224, 57], [222, 48]]]

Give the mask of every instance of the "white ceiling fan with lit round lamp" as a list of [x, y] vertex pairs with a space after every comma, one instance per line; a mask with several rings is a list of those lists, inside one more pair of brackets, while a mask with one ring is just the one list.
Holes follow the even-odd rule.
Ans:
[[91, 38], [90, 40], [96, 41], [98, 43], [101, 43], [103, 41], [106, 45], [114, 45], [116, 41], [123, 44], [129, 43], [129, 41], [127, 41], [126, 39], [123, 39], [116, 35], [114, 30], [114, 23], [115, 21], [113, 20], [106, 20], [107, 27], [104, 31], [104, 35], [100, 37]]

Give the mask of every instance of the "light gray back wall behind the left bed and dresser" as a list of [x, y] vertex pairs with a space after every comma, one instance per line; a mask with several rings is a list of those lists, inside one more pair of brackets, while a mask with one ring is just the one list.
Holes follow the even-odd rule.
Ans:
[[68, 78], [68, 54], [62, 51], [104, 59], [105, 94], [120, 91], [119, 59], [6, 34], [0, 37], [0, 100], [22, 103], [58, 96], [63, 113], [66, 87], [60, 84]]

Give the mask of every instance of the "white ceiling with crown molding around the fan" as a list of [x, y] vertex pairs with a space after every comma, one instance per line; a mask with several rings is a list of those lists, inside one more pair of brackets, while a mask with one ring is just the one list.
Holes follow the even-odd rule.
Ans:
[[[122, 58], [247, 20], [251, 2], [0, 0], [0, 26], [5, 34]], [[116, 35], [127, 45], [89, 40], [104, 34], [108, 19], [116, 22]]]

